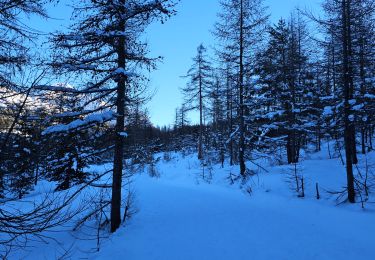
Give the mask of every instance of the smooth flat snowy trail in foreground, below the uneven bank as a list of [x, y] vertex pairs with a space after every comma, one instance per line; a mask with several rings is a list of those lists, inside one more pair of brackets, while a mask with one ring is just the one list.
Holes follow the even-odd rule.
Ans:
[[140, 212], [95, 259], [375, 259], [373, 213], [217, 185], [136, 186]]

